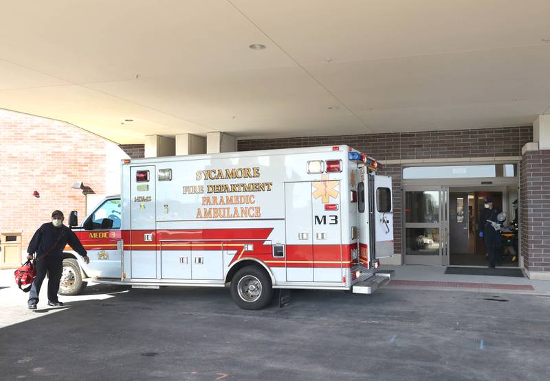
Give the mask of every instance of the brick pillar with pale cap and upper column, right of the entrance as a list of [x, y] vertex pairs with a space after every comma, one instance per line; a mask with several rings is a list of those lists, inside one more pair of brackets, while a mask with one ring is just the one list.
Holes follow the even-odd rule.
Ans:
[[521, 150], [520, 244], [530, 279], [550, 280], [550, 115], [533, 122], [533, 141]]

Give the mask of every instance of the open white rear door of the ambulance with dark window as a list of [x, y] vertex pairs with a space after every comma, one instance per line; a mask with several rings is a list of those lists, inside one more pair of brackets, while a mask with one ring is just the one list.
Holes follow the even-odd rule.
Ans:
[[374, 258], [380, 259], [393, 255], [393, 203], [391, 196], [391, 177], [369, 174], [371, 183], [371, 213], [374, 222]]

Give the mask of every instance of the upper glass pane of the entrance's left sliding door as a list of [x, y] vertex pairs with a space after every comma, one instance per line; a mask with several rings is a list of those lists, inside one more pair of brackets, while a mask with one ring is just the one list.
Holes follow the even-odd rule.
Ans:
[[439, 222], [439, 192], [406, 192], [405, 221]]

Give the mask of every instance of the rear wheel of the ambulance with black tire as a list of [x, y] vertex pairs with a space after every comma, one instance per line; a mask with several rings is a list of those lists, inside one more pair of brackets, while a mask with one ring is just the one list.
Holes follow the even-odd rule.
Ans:
[[261, 310], [273, 298], [270, 276], [259, 266], [241, 268], [231, 279], [231, 297], [243, 310]]

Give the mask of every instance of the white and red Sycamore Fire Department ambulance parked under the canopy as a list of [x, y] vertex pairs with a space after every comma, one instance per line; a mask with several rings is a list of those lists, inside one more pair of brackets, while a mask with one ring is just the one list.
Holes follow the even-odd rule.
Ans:
[[60, 293], [78, 294], [87, 278], [230, 283], [250, 310], [274, 288], [371, 293], [389, 281], [377, 258], [393, 255], [391, 178], [377, 167], [348, 146], [125, 160], [122, 196], [73, 228], [90, 263], [66, 251]]

